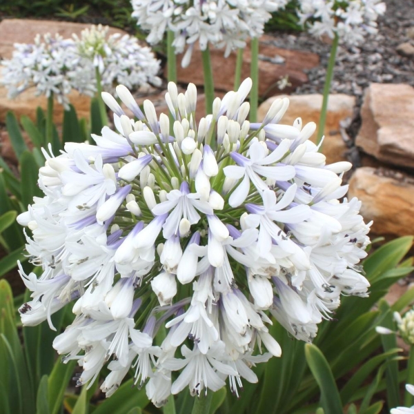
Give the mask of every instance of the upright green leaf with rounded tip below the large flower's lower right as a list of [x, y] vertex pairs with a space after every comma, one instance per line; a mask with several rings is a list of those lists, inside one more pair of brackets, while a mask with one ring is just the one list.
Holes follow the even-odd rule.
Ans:
[[342, 402], [331, 368], [326, 358], [313, 344], [305, 345], [306, 362], [321, 391], [321, 406], [325, 413], [341, 414]]

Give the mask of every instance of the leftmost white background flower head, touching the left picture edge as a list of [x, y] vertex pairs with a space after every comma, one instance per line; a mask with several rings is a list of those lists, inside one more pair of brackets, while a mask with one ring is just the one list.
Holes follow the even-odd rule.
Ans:
[[52, 93], [59, 103], [68, 107], [72, 89], [92, 95], [92, 76], [79, 67], [75, 43], [59, 34], [40, 34], [33, 44], [15, 43], [12, 59], [1, 61], [2, 83], [10, 97], [28, 88], [36, 88], [37, 95]]

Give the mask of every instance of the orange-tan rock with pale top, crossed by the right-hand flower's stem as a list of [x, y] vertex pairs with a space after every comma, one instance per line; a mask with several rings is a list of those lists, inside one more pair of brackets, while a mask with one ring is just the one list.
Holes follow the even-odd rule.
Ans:
[[[286, 97], [279, 95], [264, 101], [257, 111], [257, 119], [262, 121], [271, 104], [278, 97]], [[304, 124], [308, 122], [319, 122], [319, 114], [322, 107], [322, 95], [290, 95], [288, 96], [290, 105], [286, 114], [282, 118], [281, 124], [292, 125], [297, 117], [301, 117]], [[326, 162], [331, 164], [337, 161], [346, 160], [345, 152], [347, 150], [344, 139], [341, 135], [341, 122], [353, 116], [353, 108], [355, 106], [355, 97], [348, 95], [331, 95], [328, 102], [328, 114], [326, 116], [324, 154]], [[315, 142], [316, 133], [312, 140]]]

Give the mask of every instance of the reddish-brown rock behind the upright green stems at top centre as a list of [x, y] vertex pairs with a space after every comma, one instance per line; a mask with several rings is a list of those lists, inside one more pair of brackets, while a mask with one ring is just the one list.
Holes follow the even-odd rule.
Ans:
[[[232, 52], [227, 59], [224, 58], [224, 49], [212, 48], [210, 52], [215, 89], [226, 92], [233, 90], [237, 52]], [[203, 63], [198, 46], [195, 46], [188, 68], [181, 68], [181, 59], [182, 56], [178, 55], [178, 81], [193, 82], [197, 86], [204, 85]], [[250, 76], [251, 52], [249, 43], [244, 49], [243, 59], [242, 79]], [[304, 70], [318, 65], [319, 57], [315, 53], [276, 48], [272, 44], [272, 37], [262, 37], [259, 42], [259, 95], [268, 97], [280, 92], [277, 82], [286, 76], [288, 76], [291, 86], [287, 86], [284, 92], [295, 90], [297, 86], [308, 81]]]

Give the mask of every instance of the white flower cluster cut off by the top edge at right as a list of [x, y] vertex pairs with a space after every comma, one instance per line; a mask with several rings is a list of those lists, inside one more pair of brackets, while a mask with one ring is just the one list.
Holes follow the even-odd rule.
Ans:
[[381, 0], [299, 0], [299, 17], [317, 37], [335, 34], [348, 44], [360, 43], [366, 33], [377, 32], [377, 17], [384, 14]]

